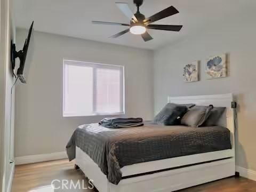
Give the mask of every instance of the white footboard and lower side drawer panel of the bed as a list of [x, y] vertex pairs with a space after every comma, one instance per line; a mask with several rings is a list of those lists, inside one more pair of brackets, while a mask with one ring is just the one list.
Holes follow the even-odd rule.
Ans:
[[81, 149], [76, 148], [76, 156], [76, 165], [81, 168], [87, 178], [93, 180], [93, 184], [99, 192], [170, 192], [235, 175], [235, 158], [230, 157], [122, 179], [118, 185], [114, 185], [107, 180], [99, 166]]

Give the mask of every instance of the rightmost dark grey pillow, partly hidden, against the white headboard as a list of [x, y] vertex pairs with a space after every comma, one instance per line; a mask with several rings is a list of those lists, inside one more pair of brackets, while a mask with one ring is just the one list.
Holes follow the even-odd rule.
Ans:
[[209, 117], [206, 119], [202, 126], [217, 125], [217, 122], [219, 121], [221, 115], [224, 113], [225, 110], [226, 107], [213, 107]]

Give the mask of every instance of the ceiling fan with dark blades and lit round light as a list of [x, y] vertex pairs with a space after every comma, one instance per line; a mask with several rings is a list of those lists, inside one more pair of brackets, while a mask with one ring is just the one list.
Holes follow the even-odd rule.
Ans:
[[143, 4], [143, 0], [133, 0], [133, 3], [137, 6], [137, 13], [133, 14], [127, 3], [116, 3], [118, 8], [129, 18], [130, 24], [127, 23], [117, 23], [117, 22], [102, 22], [102, 21], [92, 21], [93, 24], [103, 24], [103, 25], [120, 25], [130, 27], [129, 29], [123, 30], [118, 34], [110, 36], [110, 38], [117, 38], [121, 35], [128, 33], [129, 31], [134, 35], [141, 35], [145, 42], [153, 39], [147, 29], [157, 29], [157, 30], [168, 30], [168, 31], [180, 31], [181, 25], [151, 25], [155, 21], [170, 17], [171, 15], [179, 13], [175, 7], [170, 6], [163, 11], [160, 11], [149, 18], [140, 13], [140, 6]]

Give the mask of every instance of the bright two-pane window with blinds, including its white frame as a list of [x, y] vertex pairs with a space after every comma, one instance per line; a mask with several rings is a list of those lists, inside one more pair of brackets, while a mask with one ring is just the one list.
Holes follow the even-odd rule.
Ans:
[[124, 67], [63, 60], [63, 116], [124, 114]]

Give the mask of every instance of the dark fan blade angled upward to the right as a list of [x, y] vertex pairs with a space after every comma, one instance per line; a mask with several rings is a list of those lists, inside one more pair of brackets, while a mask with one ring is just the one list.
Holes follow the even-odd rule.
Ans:
[[169, 17], [169, 16], [177, 14], [177, 13], [179, 13], [179, 11], [177, 9], [175, 9], [174, 6], [170, 6], [170, 7], [166, 8], [165, 10], [160, 11], [160, 12], [152, 15], [151, 17], [145, 19], [144, 23], [146, 25], [148, 25], [151, 22], [155, 22], [155, 21], [164, 19], [166, 17]]

